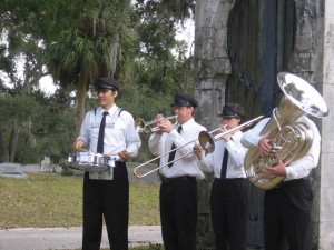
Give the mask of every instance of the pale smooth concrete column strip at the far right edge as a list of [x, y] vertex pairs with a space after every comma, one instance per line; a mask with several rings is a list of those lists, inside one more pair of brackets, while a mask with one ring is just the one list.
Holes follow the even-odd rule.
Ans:
[[[320, 0], [322, 2], [322, 0]], [[322, 154], [318, 200], [318, 248], [334, 249], [334, 0], [324, 2], [323, 63], [320, 73], [323, 76], [322, 94], [330, 107], [330, 116], [320, 121], [322, 131]]]

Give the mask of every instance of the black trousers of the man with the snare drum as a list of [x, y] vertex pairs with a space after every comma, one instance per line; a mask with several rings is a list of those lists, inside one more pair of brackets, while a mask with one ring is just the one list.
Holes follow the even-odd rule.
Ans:
[[105, 218], [110, 249], [128, 249], [129, 180], [124, 162], [116, 162], [114, 180], [84, 179], [82, 250], [100, 249]]

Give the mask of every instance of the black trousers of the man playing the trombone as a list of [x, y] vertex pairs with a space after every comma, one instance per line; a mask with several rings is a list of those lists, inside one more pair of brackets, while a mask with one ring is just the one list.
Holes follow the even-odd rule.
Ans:
[[216, 250], [246, 250], [248, 191], [247, 180], [215, 179], [210, 210]]

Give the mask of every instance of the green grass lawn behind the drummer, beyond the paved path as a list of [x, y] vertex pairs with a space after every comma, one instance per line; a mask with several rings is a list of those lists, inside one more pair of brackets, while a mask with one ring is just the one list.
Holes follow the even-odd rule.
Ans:
[[[130, 226], [160, 224], [159, 186], [130, 183]], [[0, 229], [82, 224], [82, 178], [56, 173], [0, 177]]]

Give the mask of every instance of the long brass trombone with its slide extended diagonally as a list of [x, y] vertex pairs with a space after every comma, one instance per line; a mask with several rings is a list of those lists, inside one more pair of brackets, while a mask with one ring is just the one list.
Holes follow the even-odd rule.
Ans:
[[[247, 121], [247, 122], [244, 122], [243, 124], [239, 124], [239, 126], [237, 126], [237, 127], [235, 127], [235, 128], [233, 128], [233, 129], [226, 130], [226, 131], [224, 131], [224, 132], [222, 132], [222, 133], [218, 133], [218, 134], [216, 134], [216, 136], [213, 136], [213, 133], [216, 132], [216, 131], [218, 131], [218, 130], [220, 130], [220, 128], [217, 128], [217, 129], [215, 129], [215, 130], [213, 130], [213, 131], [210, 131], [210, 132], [207, 132], [207, 131], [200, 131], [199, 134], [198, 134], [198, 139], [196, 139], [196, 140], [198, 140], [200, 147], [202, 147], [203, 150], [205, 151], [205, 154], [212, 153], [212, 152], [215, 150], [215, 142], [216, 142], [216, 141], [222, 140], [226, 134], [229, 134], [229, 133], [232, 133], [232, 134], [233, 134], [233, 133], [236, 133], [237, 131], [243, 130], [244, 128], [247, 128], [247, 127], [252, 126], [254, 122], [261, 120], [263, 117], [264, 117], [264, 116], [256, 117], [256, 118], [254, 118], [254, 119], [252, 119], [252, 120], [249, 120], [249, 121]], [[164, 153], [164, 154], [161, 154], [161, 156], [158, 156], [158, 157], [156, 157], [156, 158], [154, 158], [154, 159], [151, 159], [151, 160], [149, 160], [149, 161], [146, 161], [146, 162], [144, 162], [144, 163], [137, 166], [137, 167], [134, 169], [134, 174], [135, 174], [135, 177], [137, 177], [137, 178], [146, 177], [146, 176], [148, 176], [148, 174], [150, 174], [150, 173], [153, 173], [153, 172], [155, 172], [155, 171], [157, 171], [157, 170], [159, 170], [159, 169], [161, 169], [161, 168], [168, 166], [169, 163], [173, 163], [173, 162], [175, 162], [175, 161], [178, 161], [178, 160], [180, 160], [180, 159], [183, 159], [183, 158], [185, 158], [185, 157], [187, 157], [187, 156], [194, 153], [194, 151], [191, 151], [191, 152], [189, 152], [189, 153], [187, 153], [187, 154], [184, 154], [184, 156], [181, 156], [181, 157], [179, 157], [179, 158], [174, 159], [173, 161], [167, 162], [166, 164], [159, 166], [158, 168], [155, 168], [155, 169], [153, 169], [153, 170], [150, 170], [150, 171], [148, 171], [148, 172], [146, 172], [146, 173], [143, 173], [143, 174], [137, 173], [138, 169], [140, 169], [141, 167], [144, 167], [144, 166], [146, 166], [146, 164], [148, 164], [148, 163], [150, 163], [150, 162], [153, 162], [153, 161], [155, 161], [155, 160], [157, 160], [157, 159], [160, 159], [161, 157], [164, 157], [164, 156], [166, 156], [166, 154], [169, 154], [170, 152], [176, 151], [176, 150], [178, 150], [178, 149], [180, 149], [180, 148], [183, 148], [183, 147], [185, 147], [185, 146], [187, 146], [187, 144], [190, 144], [190, 143], [195, 142], [196, 140], [186, 142], [186, 143], [183, 144], [183, 146], [179, 146], [179, 147], [177, 147], [177, 148], [175, 148], [175, 149], [173, 149], [173, 150], [170, 150], [170, 151], [168, 151], [168, 152], [166, 152], [166, 153]]]

